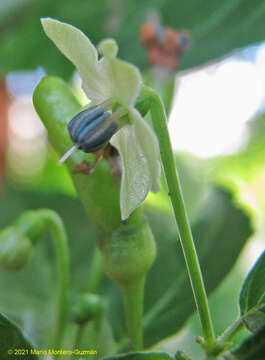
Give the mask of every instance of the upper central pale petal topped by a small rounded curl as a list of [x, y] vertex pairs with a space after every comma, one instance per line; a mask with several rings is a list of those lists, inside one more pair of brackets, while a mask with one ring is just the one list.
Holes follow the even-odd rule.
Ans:
[[100, 73], [108, 87], [109, 97], [124, 106], [132, 106], [139, 94], [141, 75], [132, 64], [116, 58], [118, 46], [112, 39], [99, 44], [103, 58], [99, 62]]

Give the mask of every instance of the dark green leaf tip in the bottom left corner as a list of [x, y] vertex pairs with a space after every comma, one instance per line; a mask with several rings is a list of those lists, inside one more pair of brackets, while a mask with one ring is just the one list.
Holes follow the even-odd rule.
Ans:
[[[23, 335], [22, 331], [1, 313], [0, 349], [1, 360], [16, 360], [19, 355], [25, 360], [38, 359], [37, 355], [31, 355], [31, 350], [34, 350], [34, 348]], [[16, 354], [16, 349], [24, 351], [23, 354]]]

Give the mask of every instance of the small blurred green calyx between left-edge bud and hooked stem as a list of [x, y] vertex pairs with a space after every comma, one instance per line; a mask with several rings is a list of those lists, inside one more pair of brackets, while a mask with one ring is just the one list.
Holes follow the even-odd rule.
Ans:
[[19, 216], [15, 226], [17, 232], [29, 237], [34, 244], [45, 231], [45, 220], [38, 210], [29, 210]]

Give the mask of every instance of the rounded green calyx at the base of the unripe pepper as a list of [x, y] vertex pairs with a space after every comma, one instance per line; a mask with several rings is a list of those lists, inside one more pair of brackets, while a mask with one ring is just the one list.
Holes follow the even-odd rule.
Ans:
[[100, 248], [106, 274], [120, 287], [143, 279], [156, 254], [151, 229], [146, 219], [121, 225]]

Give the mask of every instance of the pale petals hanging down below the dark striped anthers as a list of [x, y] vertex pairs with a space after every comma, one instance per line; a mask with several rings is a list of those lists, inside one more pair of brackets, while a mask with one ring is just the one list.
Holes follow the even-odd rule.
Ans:
[[111, 139], [122, 159], [122, 220], [140, 206], [151, 189], [158, 191], [160, 177], [156, 136], [135, 109], [130, 110], [130, 117], [132, 124], [124, 126]]

